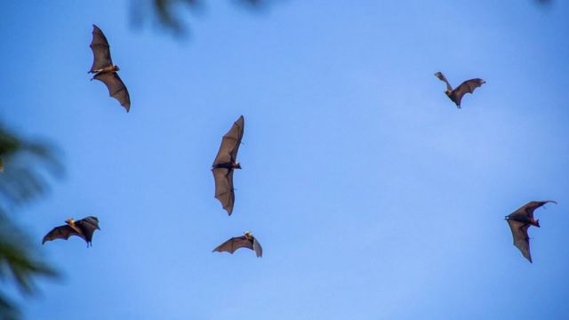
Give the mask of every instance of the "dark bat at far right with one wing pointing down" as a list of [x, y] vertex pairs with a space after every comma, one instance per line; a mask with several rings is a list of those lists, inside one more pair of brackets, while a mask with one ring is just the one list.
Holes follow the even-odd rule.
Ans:
[[527, 229], [531, 226], [540, 228], [540, 220], [533, 219], [533, 211], [547, 203], [557, 204], [557, 202], [551, 200], [531, 201], [506, 216], [514, 237], [514, 245], [522, 252], [525, 259], [530, 262], [532, 262], [532, 255], [530, 254], [530, 237], [527, 235]]

